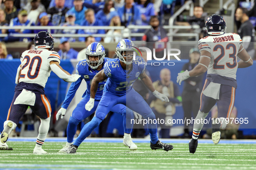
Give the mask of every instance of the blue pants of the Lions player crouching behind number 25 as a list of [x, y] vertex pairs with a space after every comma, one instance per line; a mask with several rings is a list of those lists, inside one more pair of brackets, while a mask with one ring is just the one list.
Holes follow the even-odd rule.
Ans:
[[[67, 127], [67, 142], [68, 143], [73, 142], [78, 124], [81, 121], [83, 121], [84, 119], [86, 119], [87, 117], [89, 117], [92, 113], [94, 113], [97, 109], [97, 106], [98, 106], [99, 102], [100, 102], [98, 100], [95, 100], [93, 109], [91, 111], [88, 111], [88, 110], [85, 109], [85, 104], [87, 104], [87, 102], [89, 100], [90, 100], [90, 98], [83, 98], [78, 103], [77, 107], [75, 107], [75, 109], [73, 110], [72, 115], [69, 118], [68, 127]], [[132, 126], [129, 129], [126, 128], [126, 121], [127, 122], [129, 121], [126, 118], [126, 112], [128, 112], [129, 115], [130, 115], [130, 114], [133, 114], [133, 111], [130, 110], [129, 108], [126, 108], [123, 104], [117, 104], [117, 105], [113, 106], [113, 108], [111, 108], [110, 111], [123, 115], [123, 129], [124, 129], [124, 132], [125, 133], [131, 133], [132, 132]]]

